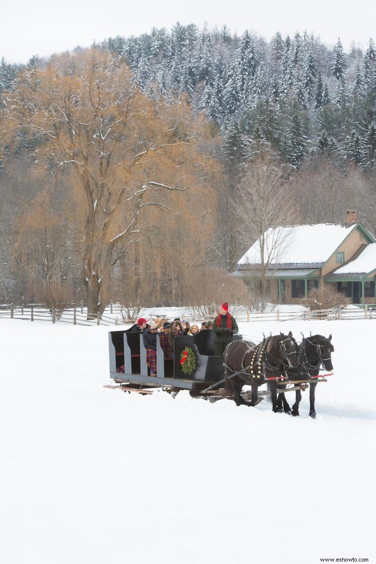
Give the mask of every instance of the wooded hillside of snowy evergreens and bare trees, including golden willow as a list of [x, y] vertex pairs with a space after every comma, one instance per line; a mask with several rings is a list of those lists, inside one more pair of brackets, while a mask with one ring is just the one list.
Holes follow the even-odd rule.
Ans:
[[178, 23], [2, 59], [0, 303], [235, 300], [273, 224], [375, 233], [375, 58]]

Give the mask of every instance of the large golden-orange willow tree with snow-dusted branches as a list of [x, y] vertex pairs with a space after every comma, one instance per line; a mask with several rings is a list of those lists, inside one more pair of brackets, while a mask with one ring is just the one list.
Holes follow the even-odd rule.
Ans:
[[8, 153], [12, 143], [33, 151], [46, 175], [69, 179], [90, 317], [103, 312], [112, 267], [148, 231], [151, 210], [173, 209], [178, 192], [211, 199], [212, 162], [197, 151], [204, 125], [184, 100], [170, 108], [141, 94], [126, 64], [99, 49], [21, 73], [1, 124]]

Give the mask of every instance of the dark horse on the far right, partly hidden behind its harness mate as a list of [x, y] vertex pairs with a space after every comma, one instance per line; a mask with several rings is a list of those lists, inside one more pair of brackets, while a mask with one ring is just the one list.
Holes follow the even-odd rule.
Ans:
[[[333, 370], [331, 364], [331, 353], [334, 352], [334, 346], [331, 344], [331, 334], [328, 338], [322, 335], [313, 335], [313, 337], [304, 337], [298, 349], [299, 364], [295, 368], [287, 369], [287, 376], [290, 380], [310, 380], [313, 376], [318, 376], [320, 368], [325, 370]], [[309, 416], [312, 419], [316, 418], [315, 411], [315, 390], [317, 381], [313, 380], [312, 384], [309, 383]], [[278, 386], [283, 388], [284, 385]], [[278, 409], [281, 411], [282, 404], [285, 413], [292, 413], [292, 415], [299, 415], [299, 403], [302, 399], [302, 391], [295, 391], [295, 403], [291, 411], [289, 404], [285, 398], [284, 393], [278, 395]]]

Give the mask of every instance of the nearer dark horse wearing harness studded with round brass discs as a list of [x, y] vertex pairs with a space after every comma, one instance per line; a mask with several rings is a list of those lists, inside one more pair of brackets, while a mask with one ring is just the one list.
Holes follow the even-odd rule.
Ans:
[[[280, 377], [287, 368], [298, 365], [298, 345], [293, 334], [274, 335], [264, 339], [259, 345], [247, 341], [233, 341], [224, 351], [225, 390], [235, 400], [237, 406], [246, 404], [256, 406], [261, 400], [257, 390], [268, 378]], [[237, 373], [235, 376], [232, 374]], [[251, 386], [251, 402], [245, 402], [241, 396], [242, 387]], [[277, 412], [277, 381], [271, 381], [273, 411]]]

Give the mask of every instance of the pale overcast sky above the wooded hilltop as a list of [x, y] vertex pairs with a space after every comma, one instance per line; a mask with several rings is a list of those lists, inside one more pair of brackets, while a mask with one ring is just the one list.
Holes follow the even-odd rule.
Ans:
[[307, 30], [331, 46], [340, 37], [344, 49], [376, 42], [376, 1], [365, 0], [8, 0], [2, 2], [0, 57], [26, 62], [88, 47], [107, 38], [138, 35], [152, 27], [170, 29], [176, 21], [202, 29], [226, 24], [231, 32], [253, 30], [270, 39]]

